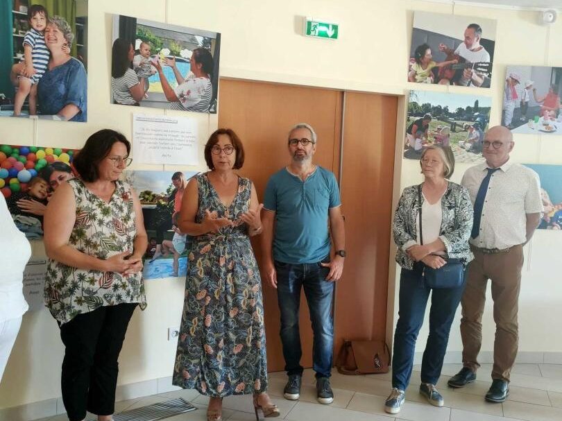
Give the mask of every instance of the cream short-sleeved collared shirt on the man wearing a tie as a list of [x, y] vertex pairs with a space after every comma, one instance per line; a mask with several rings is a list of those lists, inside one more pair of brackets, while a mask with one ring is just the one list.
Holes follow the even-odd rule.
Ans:
[[[468, 189], [472, 204], [482, 180], [486, 163], [470, 167], [461, 184]], [[491, 175], [480, 220], [480, 234], [470, 243], [479, 248], [509, 248], [527, 241], [526, 214], [543, 212], [538, 174], [521, 164], [506, 162]]]

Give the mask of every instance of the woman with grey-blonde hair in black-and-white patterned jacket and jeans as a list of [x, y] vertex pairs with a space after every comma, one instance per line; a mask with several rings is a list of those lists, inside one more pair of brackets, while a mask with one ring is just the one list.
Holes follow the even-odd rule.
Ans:
[[[385, 411], [398, 413], [405, 399], [414, 364], [416, 339], [423, 323], [429, 292], [429, 338], [423, 353], [420, 393], [430, 404], [443, 406], [435, 385], [441, 375], [443, 358], [454, 313], [466, 284], [466, 264], [473, 256], [468, 246], [472, 229], [472, 203], [468, 191], [448, 180], [454, 170], [449, 147], [428, 146], [420, 158], [424, 182], [402, 192], [394, 214], [394, 242], [400, 273], [399, 318], [394, 334], [392, 391]], [[420, 210], [422, 239], [420, 241]], [[424, 280], [426, 266], [441, 268], [447, 258], [461, 259], [463, 283], [456, 288], [431, 289]]]

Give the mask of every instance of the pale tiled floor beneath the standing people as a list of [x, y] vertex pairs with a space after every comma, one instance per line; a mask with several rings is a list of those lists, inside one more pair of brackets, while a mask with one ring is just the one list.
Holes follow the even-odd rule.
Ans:
[[[418, 394], [420, 367], [414, 366], [407, 401], [395, 416], [384, 412], [384, 399], [390, 392], [391, 375], [343, 376], [336, 370], [332, 375], [334, 402], [321, 405], [316, 402], [314, 373], [306, 370], [300, 400], [283, 399], [282, 390], [287, 377], [271, 373], [269, 393], [278, 404], [281, 418], [290, 421], [562, 421], [562, 365], [518, 364], [511, 374], [510, 394], [503, 404], [484, 401], [490, 386], [491, 364], [483, 364], [478, 380], [461, 389], [447, 387], [447, 380], [460, 365], [445, 364], [438, 390], [445, 398], [445, 407], [429, 405]], [[167, 421], [205, 420], [208, 399], [194, 390], [174, 392], [131, 399], [117, 403], [117, 412], [161, 402], [171, 397], [184, 397], [198, 407], [197, 411], [167, 418]], [[260, 414], [261, 415], [261, 414]], [[92, 415], [87, 420], [95, 420]], [[40, 421], [66, 421], [65, 415]], [[252, 421], [255, 415], [251, 396], [228, 397], [223, 402], [223, 420]]]

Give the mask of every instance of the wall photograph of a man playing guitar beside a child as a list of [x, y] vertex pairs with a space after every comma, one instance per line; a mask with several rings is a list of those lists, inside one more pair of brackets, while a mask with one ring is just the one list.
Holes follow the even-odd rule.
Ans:
[[408, 81], [490, 87], [495, 21], [415, 12]]

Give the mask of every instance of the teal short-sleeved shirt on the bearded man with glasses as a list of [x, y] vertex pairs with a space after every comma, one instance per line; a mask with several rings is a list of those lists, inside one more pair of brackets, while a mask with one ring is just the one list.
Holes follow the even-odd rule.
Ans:
[[283, 263], [316, 263], [330, 253], [328, 216], [341, 205], [334, 173], [316, 166], [305, 181], [286, 168], [271, 175], [264, 209], [275, 212], [273, 258]]

